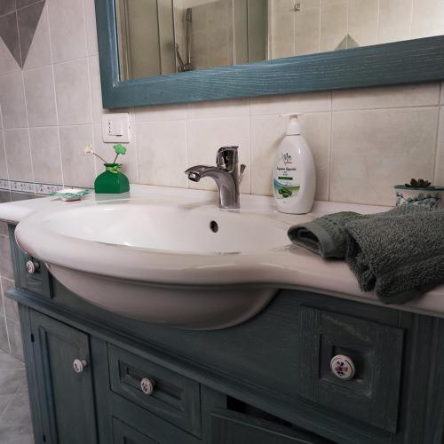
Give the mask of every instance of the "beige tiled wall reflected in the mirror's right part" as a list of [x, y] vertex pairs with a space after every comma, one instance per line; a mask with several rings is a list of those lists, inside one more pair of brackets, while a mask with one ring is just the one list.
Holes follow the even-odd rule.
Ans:
[[442, 0], [270, 0], [270, 13], [273, 59], [444, 33]]

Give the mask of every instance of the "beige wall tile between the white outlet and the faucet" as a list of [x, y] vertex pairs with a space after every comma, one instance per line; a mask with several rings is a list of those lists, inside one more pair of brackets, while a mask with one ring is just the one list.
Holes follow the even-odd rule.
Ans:
[[139, 182], [186, 187], [186, 122], [141, 122], [136, 129]]

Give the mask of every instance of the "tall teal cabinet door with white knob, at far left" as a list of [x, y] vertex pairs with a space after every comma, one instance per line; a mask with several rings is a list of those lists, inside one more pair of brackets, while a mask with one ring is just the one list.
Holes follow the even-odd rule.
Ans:
[[34, 311], [30, 320], [44, 442], [97, 443], [88, 336]]

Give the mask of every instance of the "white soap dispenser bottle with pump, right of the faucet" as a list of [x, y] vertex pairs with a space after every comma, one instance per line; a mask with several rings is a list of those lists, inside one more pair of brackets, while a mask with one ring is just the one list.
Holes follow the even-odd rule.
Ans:
[[313, 207], [316, 170], [296, 114], [289, 115], [287, 133], [278, 147], [273, 173], [274, 199], [282, 213], [305, 214]]

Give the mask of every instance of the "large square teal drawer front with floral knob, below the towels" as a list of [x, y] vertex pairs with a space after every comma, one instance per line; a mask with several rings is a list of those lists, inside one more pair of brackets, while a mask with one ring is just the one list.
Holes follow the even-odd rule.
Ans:
[[[304, 306], [300, 331], [302, 394], [346, 416], [396, 432], [403, 329]], [[337, 355], [352, 361], [351, 379], [337, 377], [330, 368]], [[345, 366], [350, 367], [348, 362]]]

